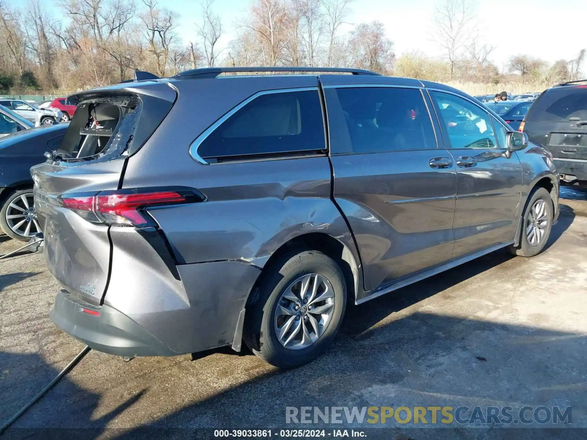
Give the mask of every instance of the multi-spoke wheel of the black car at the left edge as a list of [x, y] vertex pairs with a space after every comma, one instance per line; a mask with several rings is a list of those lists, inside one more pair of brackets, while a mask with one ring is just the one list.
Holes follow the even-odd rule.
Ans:
[[41, 232], [32, 189], [21, 189], [8, 195], [0, 209], [0, 228], [6, 235], [19, 241], [29, 241]]

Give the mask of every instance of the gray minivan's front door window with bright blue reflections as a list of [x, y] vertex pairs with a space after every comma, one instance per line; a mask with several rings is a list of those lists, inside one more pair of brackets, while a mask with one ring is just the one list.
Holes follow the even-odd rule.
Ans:
[[466, 99], [431, 92], [452, 148], [499, 148], [489, 114]]

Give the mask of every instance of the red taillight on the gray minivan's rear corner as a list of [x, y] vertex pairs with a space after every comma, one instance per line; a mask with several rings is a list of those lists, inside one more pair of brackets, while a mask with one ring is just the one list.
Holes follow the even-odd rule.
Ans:
[[64, 194], [59, 198], [64, 208], [71, 209], [86, 221], [117, 226], [154, 226], [144, 208], [201, 202], [203, 195], [190, 189], [163, 191], [102, 191], [95, 195]]

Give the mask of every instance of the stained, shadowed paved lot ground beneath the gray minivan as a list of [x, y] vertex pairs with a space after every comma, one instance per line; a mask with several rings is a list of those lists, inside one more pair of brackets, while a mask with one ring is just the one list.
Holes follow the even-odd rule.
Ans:
[[[0, 254], [16, 247], [0, 236]], [[57, 290], [42, 255], [0, 260], [0, 424], [83, 348], [49, 320]], [[276, 371], [230, 349], [129, 363], [90, 351], [6, 435], [284, 428], [285, 407], [302, 405], [571, 405], [572, 426], [585, 430], [372, 428], [367, 438], [587, 438], [586, 295], [587, 218], [566, 208], [542, 255], [494, 252], [354, 307], [312, 364]]]

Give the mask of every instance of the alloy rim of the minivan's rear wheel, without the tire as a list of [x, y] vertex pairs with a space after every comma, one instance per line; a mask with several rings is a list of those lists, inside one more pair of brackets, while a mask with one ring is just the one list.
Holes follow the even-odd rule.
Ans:
[[299, 350], [315, 343], [334, 312], [334, 290], [318, 273], [303, 275], [282, 293], [275, 310], [275, 335], [285, 348]]

